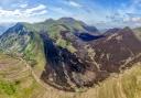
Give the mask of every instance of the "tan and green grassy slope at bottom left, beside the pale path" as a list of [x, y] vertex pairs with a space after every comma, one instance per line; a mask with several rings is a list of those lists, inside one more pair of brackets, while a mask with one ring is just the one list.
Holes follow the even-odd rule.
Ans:
[[41, 98], [42, 92], [23, 61], [0, 54], [0, 98]]

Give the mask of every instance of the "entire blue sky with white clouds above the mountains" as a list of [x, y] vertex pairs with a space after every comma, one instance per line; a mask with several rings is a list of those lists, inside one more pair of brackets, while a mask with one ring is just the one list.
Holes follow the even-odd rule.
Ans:
[[72, 17], [98, 26], [138, 26], [141, 25], [141, 0], [0, 1], [0, 23], [39, 22], [62, 17]]

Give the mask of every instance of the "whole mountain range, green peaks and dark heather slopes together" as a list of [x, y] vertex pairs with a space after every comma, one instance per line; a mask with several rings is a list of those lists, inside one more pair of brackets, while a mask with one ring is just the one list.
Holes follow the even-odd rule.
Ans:
[[19, 22], [0, 36], [0, 51], [23, 58], [55, 88], [96, 86], [141, 62], [141, 28], [97, 28], [73, 18]]

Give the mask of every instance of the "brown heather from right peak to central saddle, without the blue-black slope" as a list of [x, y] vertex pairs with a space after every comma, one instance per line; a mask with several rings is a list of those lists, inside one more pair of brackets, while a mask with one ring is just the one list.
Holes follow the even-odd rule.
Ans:
[[82, 41], [68, 32], [62, 35], [65, 40], [72, 41], [77, 50], [77, 57], [96, 67], [96, 81], [105, 79], [110, 73], [120, 72], [130, 66], [130, 63], [141, 61], [141, 42], [129, 28], [90, 42]]

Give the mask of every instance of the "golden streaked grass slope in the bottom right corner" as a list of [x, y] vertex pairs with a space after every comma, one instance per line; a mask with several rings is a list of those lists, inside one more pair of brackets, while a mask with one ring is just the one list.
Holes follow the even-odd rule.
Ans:
[[96, 98], [140, 98], [141, 64], [100, 84]]

